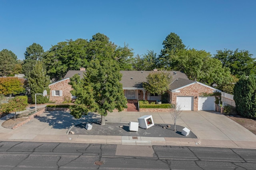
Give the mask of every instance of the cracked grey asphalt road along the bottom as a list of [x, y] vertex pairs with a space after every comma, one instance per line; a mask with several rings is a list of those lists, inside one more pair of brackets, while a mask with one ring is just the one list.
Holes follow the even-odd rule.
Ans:
[[242, 170], [255, 167], [256, 150], [249, 149], [0, 142], [0, 170]]

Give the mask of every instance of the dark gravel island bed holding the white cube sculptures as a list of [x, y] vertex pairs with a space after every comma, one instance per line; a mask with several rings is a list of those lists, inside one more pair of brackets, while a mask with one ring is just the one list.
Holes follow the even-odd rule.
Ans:
[[196, 135], [191, 131], [188, 136], [182, 135], [181, 132], [184, 127], [178, 125], [176, 125], [176, 131], [174, 131], [174, 125], [171, 125], [171, 127], [168, 128], [168, 124], [155, 124], [147, 129], [139, 127], [138, 132], [130, 131], [129, 123], [106, 123], [106, 125], [91, 123], [91, 125], [91, 130], [86, 130], [86, 123], [78, 124], [72, 127], [71, 130], [74, 132], [74, 134], [85, 135], [197, 138]]

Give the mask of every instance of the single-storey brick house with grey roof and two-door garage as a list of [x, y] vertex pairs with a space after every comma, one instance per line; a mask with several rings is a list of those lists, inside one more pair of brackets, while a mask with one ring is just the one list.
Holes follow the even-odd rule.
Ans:
[[[154, 69], [157, 71], [157, 69]], [[67, 100], [75, 100], [71, 95], [72, 90], [70, 77], [78, 74], [83, 78], [85, 69], [80, 71], [70, 70], [65, 75], [64, 79], [54, 82], [49, 85], [50, 100], [62, 103]], [[142, 87], [142, 83], [146, 82], [146, 77], [153, 71], [120, 71], [122, 73], [122, 80], [124, 95], [128, 103], [138, 103], [138, 100], [158, 101], [162, 99], [161, 95], [151, 94]], [[180, 71], [170, 71], [172, 75], [172, 83], [167, 91], [168, 99], [172, 104], [179, 105], [181, 110], [215, 110], [215, 97], [203, 97], [202, 93], [220, 92], [220, 90], [210, 87], [198, 81], [189, 80], [188, 77]], [[129, 102], [130, 101], [130, 102]], [[138, 108], [135, 108], [138, 110]]]

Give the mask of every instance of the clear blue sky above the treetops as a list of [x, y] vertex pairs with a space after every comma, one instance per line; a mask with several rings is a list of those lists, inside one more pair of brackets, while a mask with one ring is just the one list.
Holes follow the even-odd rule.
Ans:
[[256, 57], [255, 8], [255, 0], [0, 0], [0, 51], [24, 59], [34, 42], [47, 51], [100, 32], [134, 55], [159, 54], [174, 32], [189, 48], [238, 48]]

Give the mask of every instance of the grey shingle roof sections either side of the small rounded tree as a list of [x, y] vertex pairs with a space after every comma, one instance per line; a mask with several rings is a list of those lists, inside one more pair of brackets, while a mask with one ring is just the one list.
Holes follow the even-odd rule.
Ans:
[[[120, 83], [122, 83], [123, 89], [143, 88], [142, 83], [147, 81], [146, 77], [152, 72], [154, 71], [120, 71], [120, 73], [122, 73], [122, 80]], [[170, 73], [172, 75], [172, 80], [178, 78], [188, 79], [186, 74], [180, 71], [170, 71]]]

